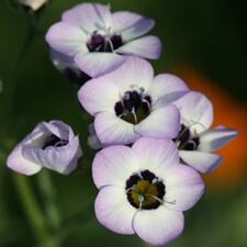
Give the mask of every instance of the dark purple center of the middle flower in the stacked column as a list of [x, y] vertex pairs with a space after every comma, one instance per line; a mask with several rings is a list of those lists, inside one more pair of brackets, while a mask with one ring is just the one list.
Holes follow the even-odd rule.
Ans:
[[[142, 90], [141, 90], [142, 91]], [[122, 120], [138, 124], [150, 113], [151, 98], [143, 92], [126, 91], [123, 99], [115, 103], [116, 116]]]

